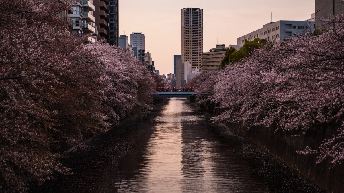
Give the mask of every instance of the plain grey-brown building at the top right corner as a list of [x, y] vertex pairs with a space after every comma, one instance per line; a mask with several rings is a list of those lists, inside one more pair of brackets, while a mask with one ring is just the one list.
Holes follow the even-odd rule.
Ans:
[[344, 3], [339, 0], [315, 0], [315, 23], [317, 29], [329, 29], [332, 25], [324, 25], [321, 18], [327, 19], [332, 15], [344, 12]]

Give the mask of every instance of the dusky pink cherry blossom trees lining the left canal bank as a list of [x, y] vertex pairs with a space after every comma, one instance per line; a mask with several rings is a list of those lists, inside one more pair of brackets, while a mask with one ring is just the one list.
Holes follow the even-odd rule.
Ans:
[[0, 5], [0, 190], [25, 192], [68, 174], [66, 149], [146, 115], [156, 83], [127, 50], [69, 36], [69, 1]]

